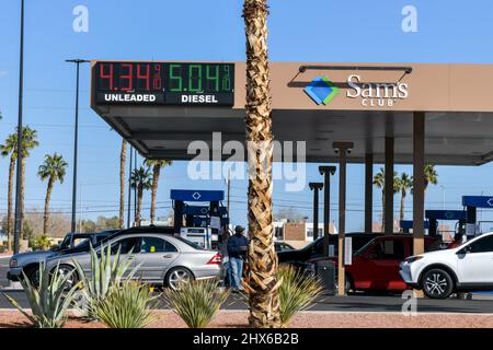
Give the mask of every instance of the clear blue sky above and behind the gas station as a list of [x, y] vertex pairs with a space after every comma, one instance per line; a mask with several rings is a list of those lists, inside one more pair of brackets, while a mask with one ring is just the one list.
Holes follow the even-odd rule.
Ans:
[[[72, 31], [74, 7], [89, 9], [89, 33]], [[404, 5], [417, 9], [417, 33], [401, 30]], [[24, 122], [35, 128], [41, 145], [26, 168], [26, 209], [42, 208], [45, 187], [36, 177], [46, 153], [62, 153], [72, 164], [74, 68], [68, 58], [87, 59], [244, 59], [240, 0], [26, 0]], [[272, 0], [270, 58], [278, 61], [468, 62], [490, 63], [493, 2], [446, 0]], [[20, 1], [0, 3], [0, 140], [13, 131], [18, 116]], [[89, 107], [89, 68], [81, 69], [80, 183], [83, 218], [117, 213], [119, 137]], [[308, 165], [308, 180], [320, 180], [318, 164]], [[377, 166], [377, 165], [376, 165]], [[0, 214], [7, 208], [8, 160], [0, 160]], [[397, 166], [399, 172], [411, 167]], [[460, 208], [462, 195], [493, 195], [493, 165], [438, 167], [443, 187], [431, 187], [428, 209]], [[170, 188], [223, 189], [225, 182], [184, 178], [186, 163], [162, 173], [158, 214], [170, 210]], [[71, 168], [56, 186], [51, 207], [70, 212]], [[471, 180], [473, 179], [473, 180]], [[336, 177], [334, 178], [336, 180]], [[363, 226], [363, 166], [348, 167], [349, 231]], [[232, 184], [232, 222], [244, 224], [245, 182]], [[337, 189], [333, 186], [332, 217]], [[375, 215], [380, 194], [375, 189]], [[276, 208], [297, 206], [311, 217], [311, 192], [284, 192], [274, 185]], [[146, 195], [144, 207], [148, 208]], [[395, 199], [395, 206], [398, 198]], [[411, 207], [411, 198], [408, 208]], [[147, 212], [144, 213], [147, 217]], [[411, 213], [406, 212], [408, 218]], [[483, 220], [493, 215], [483, 213]]]

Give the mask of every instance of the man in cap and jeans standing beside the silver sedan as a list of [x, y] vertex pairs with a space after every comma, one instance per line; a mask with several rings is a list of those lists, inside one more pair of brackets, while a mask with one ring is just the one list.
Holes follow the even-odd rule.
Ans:
[[228, 255], [231, 267], [231, 287], [234, 291], [242, 290], [241, 276], [243, 273], [243, 261], [246, 259], [249, 240], [244, 236], [244, 228], [236, 226], [234, 234], [228, 240]]

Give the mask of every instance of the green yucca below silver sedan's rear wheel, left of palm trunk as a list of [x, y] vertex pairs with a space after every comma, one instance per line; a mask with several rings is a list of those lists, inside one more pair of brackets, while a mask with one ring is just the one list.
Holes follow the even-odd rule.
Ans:
[[206, 327], [229, 295], [220, 291], [217, 280], [188, 281], [177, 290], [167, 289], [164, 298], [169, 306], [190, 328]]

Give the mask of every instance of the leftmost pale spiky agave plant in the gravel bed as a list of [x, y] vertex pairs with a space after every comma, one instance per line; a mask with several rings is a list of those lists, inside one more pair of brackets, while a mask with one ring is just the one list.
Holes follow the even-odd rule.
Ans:
[[26, 313], [11, 296], [3, 294], [9, 302], [27, 317], [37, 328], [61, 328], [67, 320], [67, 310], [72, 305], [74, 293], [80, 284], [76, 283], [67, 291], [67, 281], [73, 271], [61, 275], [58, 268], [51, 275], [44, 262], [39, 262], [39, 283], [35, 287], [22, 272], [21, 279], [27, 295], [32, 314]]

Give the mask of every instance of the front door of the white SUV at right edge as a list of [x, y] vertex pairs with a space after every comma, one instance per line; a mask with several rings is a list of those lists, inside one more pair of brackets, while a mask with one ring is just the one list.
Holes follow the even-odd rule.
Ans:
[[493, 235], [465, 245], [457, 257], [461, 283], [493, 284]]

